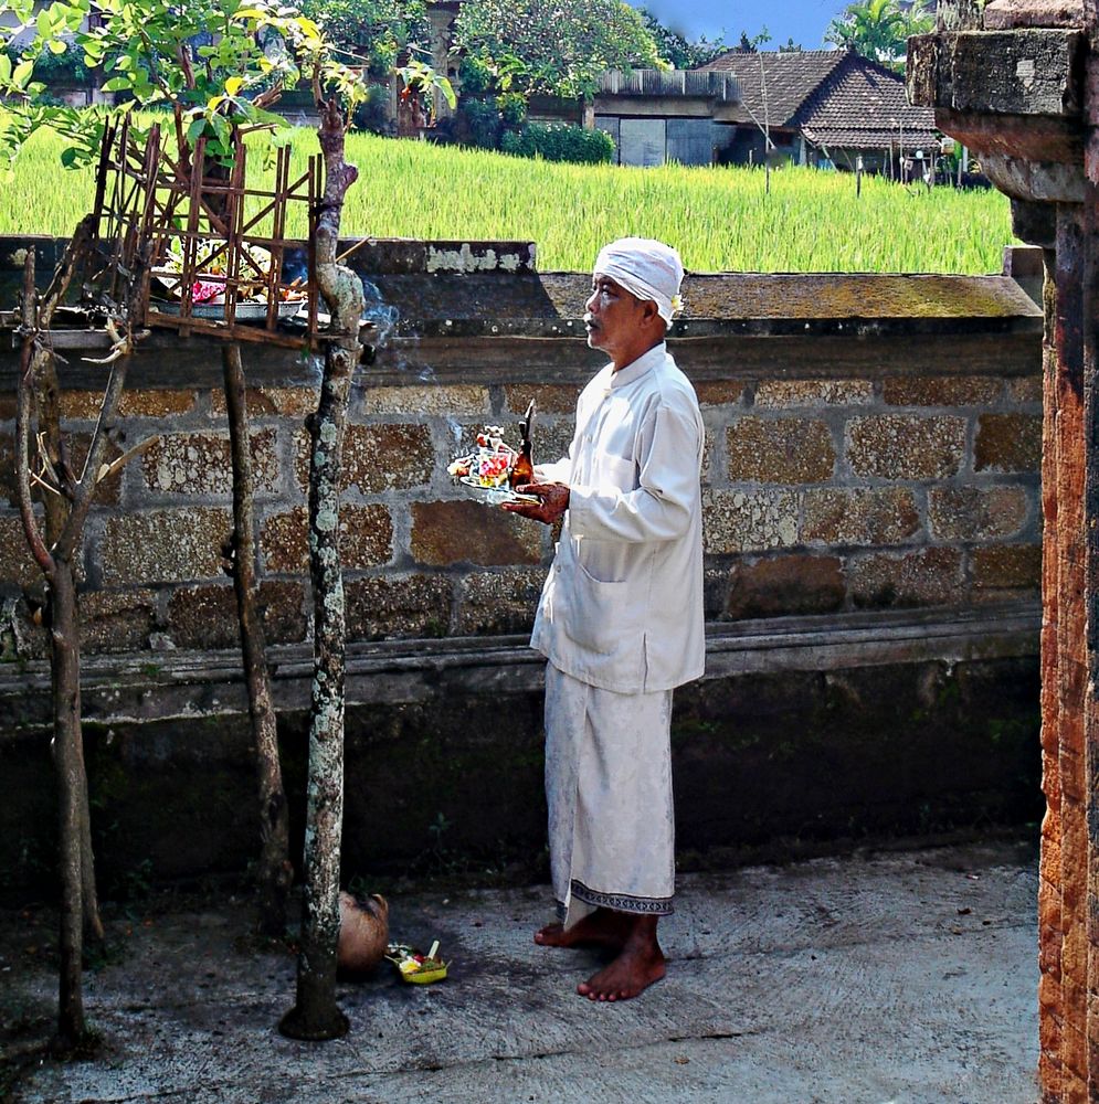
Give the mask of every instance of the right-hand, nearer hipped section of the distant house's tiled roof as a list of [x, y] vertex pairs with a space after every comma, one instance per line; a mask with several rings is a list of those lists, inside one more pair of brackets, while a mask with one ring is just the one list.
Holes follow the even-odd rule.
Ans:
[[937, 136], [934, 113], [912, 107], [896, 73], [848, 54], [802, 105], [794, 124], [814, 145], [885, 149], [903, 130], [906, 149]]

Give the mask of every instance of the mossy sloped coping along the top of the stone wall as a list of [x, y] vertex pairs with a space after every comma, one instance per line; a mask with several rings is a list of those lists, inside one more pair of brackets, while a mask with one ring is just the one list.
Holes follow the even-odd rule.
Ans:
[[[31, 241], [0, 238], [0, 307], [14, 306], [20, 250]], [[44, 265], [64, 245], [38, 241]], [[415, 385], [424, 373], [436, 383], [577, 382], [599, 367], [602, 358], [584, 342], [588, 274], [539, 274], [529, 266], [429, 270], [433, 248], [441, 256], [468, 245], [471, 256], [485, 257], [501, 245], [446, 248], [454, 244], [367, 240], [349, 255], [363, 276], [372, 323], [364, 332], [374, 363], [363, 370], [363, 384]], [[1010, 272], [1013, 265], [1008, 261]], [[730, 367], [736, 372], [741, 365], [773, 374], [776, 364], [789, 364], [807, 375], [898, 369], [1023, 374], [1040, 368], [1042, 311], [1011, 275], [699, 273], [687, 277], [684, 296], [686, 310], [669, 341], [696, 379], [728, 378]], [[8, 320], [13, 325], [10, 312]], [[102, 349], [103, 335], [55, 336], [67, 352], [64, 385], [102, 386], [103, 369], [87, 364], [83, 353]], [[0, 392], [15, 388], [13, 344], [11, 330], [0, 328]], [[218, 344], [154, 331], [138, 346], [129, 386], [220, 386]], [[289, 350], [246, 349], [245, 362], [257, 386], [309, 385], [318, 378], [315, 363]]]

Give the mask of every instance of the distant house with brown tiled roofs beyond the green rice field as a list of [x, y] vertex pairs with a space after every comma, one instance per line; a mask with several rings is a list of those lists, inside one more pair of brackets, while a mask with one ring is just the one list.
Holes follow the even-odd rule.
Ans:
[[764, 131], [772, 159], [854, 169], [862, 157], [868, 171], [890, 174], [937, 148], [933, 112], [908, 103], [898, 74], [849, 50], [730, 50], [699, 71], [728, 73], [740, 87], [722, 161], [761, 163]]

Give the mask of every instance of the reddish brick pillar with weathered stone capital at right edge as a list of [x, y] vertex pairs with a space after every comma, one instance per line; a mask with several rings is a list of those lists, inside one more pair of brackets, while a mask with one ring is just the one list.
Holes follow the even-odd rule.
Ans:
[[[1056, 8], [1056, 10], [1055, 10]], [[913, 103], [978, 152], [1046, 258], [1038, 1073], [1099, 1102], [1099, 0], [940, 0], [909, 40]], [[1019, 74], [1042, 74], [1040, 82]]]

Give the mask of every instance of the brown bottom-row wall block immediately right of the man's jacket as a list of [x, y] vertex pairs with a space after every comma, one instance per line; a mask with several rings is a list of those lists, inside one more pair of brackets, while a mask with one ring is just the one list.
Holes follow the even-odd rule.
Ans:
[[846, 587], [837, 556], [778, 555], [733, 564], [725, 617], [783, 617], [843, 608]]

